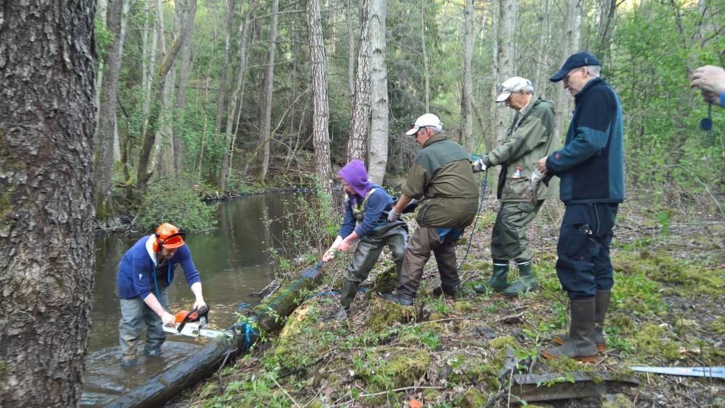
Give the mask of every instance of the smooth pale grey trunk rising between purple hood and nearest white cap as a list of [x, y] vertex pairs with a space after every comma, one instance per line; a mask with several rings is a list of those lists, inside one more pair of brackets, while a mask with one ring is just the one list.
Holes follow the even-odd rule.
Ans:
[[368, 178], [383, 184], [388, 162], [388, 68], [385, 63], [386, 0], [370, 0], [370, 142]]

